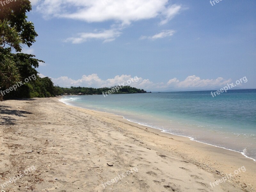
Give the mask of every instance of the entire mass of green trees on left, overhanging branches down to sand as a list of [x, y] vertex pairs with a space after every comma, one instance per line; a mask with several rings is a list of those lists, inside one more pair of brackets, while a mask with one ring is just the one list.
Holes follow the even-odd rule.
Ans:
[[[31, 10], [28, 0], [15, 0], [0, 6], [0, 91], [10, 88], [18, 81], [23, 85], [16, 91], [8, 92], [5, 98], [12, 97], [51, 97], [61, 94], [50, 78], [40, 78], [35, 68], [39, 62], [35, 55], [25, 53], [12, 53], [12, 49], [21, 52], [21, 44], [28, 47], [36, 40], [37, 33], [32, 22], [27, 21], [26, 13]], [[1, 4], [2, 5], [2, 4]], [[35, 76], [25, 83], [25, 79]], [[3, 95], [1, 94], [3, 97]], [[1, 98], [0, 98], [1, 99]]]

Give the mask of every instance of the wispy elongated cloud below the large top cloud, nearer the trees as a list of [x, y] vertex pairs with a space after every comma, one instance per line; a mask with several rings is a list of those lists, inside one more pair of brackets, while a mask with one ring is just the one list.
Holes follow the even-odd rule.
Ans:
[[73, 44], [79, 44], [86, 42], [90, 39], [101, 39], [104, 40], [103, 43], [114, 41], [116, 37], [120, 36], [121, 32], [116, 30], [104, 30], [95, 33], [79, 33], [77, 37], [70, 37], [65, 40], [65, 42], [71, 42]]

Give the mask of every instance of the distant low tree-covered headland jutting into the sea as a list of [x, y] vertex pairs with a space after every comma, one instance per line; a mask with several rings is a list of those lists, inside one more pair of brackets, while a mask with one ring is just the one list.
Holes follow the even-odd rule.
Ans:
[[128, 93], [147, 93], [143, 89], [137, 89], [129, 85], [126, 86], [113, 86], [103, 88], [92, 88], [92, 87], [70, 87], [63, 88], [58, 87], [59, 94], [62, 95], [101, 95], [101, 94], [128, 94]]

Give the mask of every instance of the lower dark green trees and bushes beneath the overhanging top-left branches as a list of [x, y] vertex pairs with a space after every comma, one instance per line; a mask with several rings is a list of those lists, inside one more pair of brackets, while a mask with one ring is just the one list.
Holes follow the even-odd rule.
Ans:
[[[16, 84], [18, 81], [25, 82], [25, 79], [31, 77], [32, 75], [37, 75], [37, 71], [35, 68], [39, 66], [39, 61], [34, 58], [35, 55], [24, 54], [24, 53], [11, 53], [11, 48], [0, 48], [0, 60], [3, 60], [0, 65], [0, 90], [4, 91]], [[14, 73], [15, 71], [15, 73]], [[15, 75], [16, 74], [16, 75]], [[15, 76], [19, 76], [19, 78], [15, 78]], [[7, 84], [6, 79], [10, 79], [10, 83]], [[24, 83], [21, 87], [19, 87], [16, 91], [12, 91], [6, 94], [5, 99], [13, 98], [13, 97], [45, 97], [51, 96], [54, 93], [47, 91], [44, 89], [44, 84], [37, 83], [40, 81], [40, 77], [37, 76], [36, 80], [29, 81], [28, 83]], [[50, 94], [48, 94], [49, 92]]]

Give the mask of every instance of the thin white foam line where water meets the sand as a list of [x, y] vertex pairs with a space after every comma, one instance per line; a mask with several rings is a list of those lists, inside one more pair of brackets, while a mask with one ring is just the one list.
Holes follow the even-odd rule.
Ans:
[[[63, 97], [63, 96], [62, 96], [62, 97]], [[62, 98], [62, 97], [61, 97], [61, 98]], [[61, 101], [61, 99], [60, 99], [59, 101], [60, 101], [61, 103], [64, 103], [64, 104], [68, 105], [68, 106], [76, 107], [76, 106], [73, 106], [73, 105], [70, 105], [70, 104], [67, 104], [67, 103]], [[82, 108], [82, 107], [77, 107], [77, 108]], [[89, 108], [82, 108], [82, 109], [94, 110], [94, 109], [89, 109]], [[94, 110], [94, 111], [98, 111], [98, 110]], [[118, 114], [114, 114], [114, 113], [110, 113], [110, 112], [105, 112], [105, 111], [98, 111], [98, 112], [103, 112], [103, 113], [113, 114], [113, 115], [116, 115], [116, 116], [121, 116], [121, 115], [118, 115]], [[205, 142], [202, 142], [202, 141], [198, 141], [198, 140], [195, 140], [195, 139], [192, 138], [192, 137], [174, 134], [174, 133], [171, 133], [171, 132], [167, 132], [167, 131], [165, 131], [165, 130], [163, 130], [163, 129], [158, 129], [158, 128], [155, 128], [155, 127], [150, 127], [150, 126], [145, 125], [145, 124], [133, 122], [133, 121], [131, 121], [131, 120], [129, 120], [129, 119], [126, 119], [124, 116], [122, 116], [122, 117], [123, 117], [125, 120], [129, 121], [129, 122], [132, 122], [132, 123], [135, 123], [135, 124], [139, 124], [139, 125], [142, 125], [142, 126], [146, 126], [146, 127], [151, 128], [151, 129], [160, 130], [160, 131], [163, 132], [163, 133], [168, 133], [168, 134], [175, 135], [175, 136], [179, 136], [179, 137], [185, 137], [185, 138], [188, 138], [188, 139], [191, 140], [191, 141], [196, 141], [196, 142], [199, 142], [199, 143], [203, 143], [203, 144], [206, 144], [206, 145], [210, 145], [210, 146], [212, 146], [212, 147], [223, 148], [223, 149], [226, 149], [226, 150], [229, 150], [229, 151], [233, 151], [233, 152], [240, 153], [240, 154], [242, 154], [245, 158], [249, 158], [249, 159], [251, 159], [252, 161], [256, 162], [256, 159], [245, 155], [244, 152], [239, 152], [239, 151], [236, 151], [236, 150], [233, 150], [233, 149], [228, 149], [228, 148], [225, 148], [225, 147], [220, 147], [220, 146], [213, 145], [213, 144], [210, 144], [210, 143], [205, 143]]]

